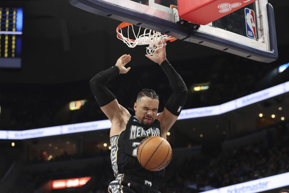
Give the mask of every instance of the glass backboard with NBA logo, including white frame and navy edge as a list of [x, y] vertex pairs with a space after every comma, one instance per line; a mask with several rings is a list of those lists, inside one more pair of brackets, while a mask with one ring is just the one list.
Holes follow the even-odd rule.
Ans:
[[[176, 21], [177, 0], [69, 0], [85, 11], [260, 62], [278, 58], [274, 11], [257, 0], [207, 25]], [[210, 13], [210, 10], [208, 10]], [[254, 21], [254, 28], [246, 21]], [[188, 25], [189, 24], [189, 25]], [[254, 31], [255, 30], [255, 31]]]

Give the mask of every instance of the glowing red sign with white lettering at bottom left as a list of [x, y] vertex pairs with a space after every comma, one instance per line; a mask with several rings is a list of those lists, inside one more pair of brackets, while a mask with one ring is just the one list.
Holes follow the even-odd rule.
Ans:
[[88, 182], [90, 179], [91, 179], [91, 177], [53, 180], [52, 181], [52, 189], [81, 187], [81, 186], [85, 185], [86, 182]]

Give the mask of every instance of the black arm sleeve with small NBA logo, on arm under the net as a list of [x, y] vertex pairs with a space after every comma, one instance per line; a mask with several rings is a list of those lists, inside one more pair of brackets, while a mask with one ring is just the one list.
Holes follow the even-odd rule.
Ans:
[[160, 67], [169, 78], [169, 84], [171, 85], [173, 90], [173, 93], [169, 97], [169, 100], [167, 101], [165, 107], [173, 115], [179, 116], [187, 99], [188, 89], [182, 77], [169, 64], [169, 61], [163, 61], [160, 64]]

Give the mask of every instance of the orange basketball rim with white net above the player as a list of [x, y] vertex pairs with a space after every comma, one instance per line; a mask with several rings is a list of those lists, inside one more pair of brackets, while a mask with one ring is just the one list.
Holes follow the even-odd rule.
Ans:
[[[129, 39], [130, 26], [132, 28], [135, 40]], [[127, 29], [128, 37], [125, 37], [123, 35], [122, 28], [124, 27], [128, 27]], [[144, 33], [139, 35], [140, 30], [141, 27], [139, 27], [138, 34], [135, 35], [133, 25], [123, 22], [119, 26], [117, 26], [117, 38], [126, 43], [126, 45], [129, 46], [130, 48], [134, 48], [137, 45], [149, 45], [148, 47], [146, 47], [148, 55], [153, 55], [156, 50], [162, 48], [163, 46], [166, 46], [166, 41], [172, 42], [177, 40], [177, 38], [174, 38], [172, 36], [168, 36], [166, 34], [162, 34], [160, 32], [149, 29], [144, 29]], [[161, 44], [159, 42], [161, 42]]]

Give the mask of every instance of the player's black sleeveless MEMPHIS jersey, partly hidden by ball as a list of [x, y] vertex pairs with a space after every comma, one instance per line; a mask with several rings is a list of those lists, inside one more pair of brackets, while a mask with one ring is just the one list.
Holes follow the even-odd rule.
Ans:
[[148, 136], [160, 136], [160, 121], [155, 119], [151, 127], [145, 130], [142, 124], [133, 116], [126, 124], [126, 130], [110, 138], [110, 159], [114, 176], [129, 174], [159, 183], [165, 175], [165, 170], [149, 171], [144, 169], [137, 159], [137, 148], [140, 142]]

